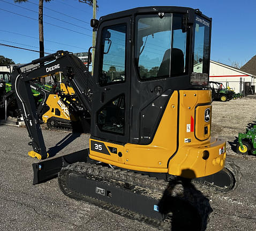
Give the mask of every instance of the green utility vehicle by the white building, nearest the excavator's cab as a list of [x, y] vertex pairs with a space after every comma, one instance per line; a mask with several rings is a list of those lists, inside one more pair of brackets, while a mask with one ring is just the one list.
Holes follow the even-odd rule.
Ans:
[[225, 89], [222, 83], [209, 81], [210, 89], [212, 89], [212, 98], [216, 101], [229, 101], [233, 98], [233, 94], [228, 89]]

